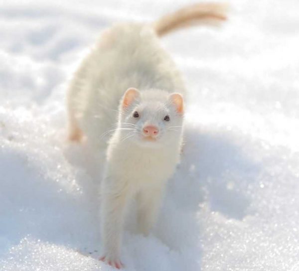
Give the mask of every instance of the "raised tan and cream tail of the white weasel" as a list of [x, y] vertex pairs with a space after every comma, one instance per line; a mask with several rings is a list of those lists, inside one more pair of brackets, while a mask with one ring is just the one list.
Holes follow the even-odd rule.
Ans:
[[226, 20], [227, 7], [224, 3], [196, 3], [161, 17], [153, 23], [153, 28], [158, 36], [163, 36], [194, 24], [218, 24]]

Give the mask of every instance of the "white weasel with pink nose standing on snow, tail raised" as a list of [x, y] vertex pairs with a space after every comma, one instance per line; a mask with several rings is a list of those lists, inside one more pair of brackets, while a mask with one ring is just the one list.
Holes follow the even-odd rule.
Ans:
[[[166, 181], [179, 162], [185, 87], [159, 36], [192, 23], [225, 19], [222, 4], [199, 3], [153, 24], [122, 23], [102, 34], [67, 94], [69, 138], [108, 141], [102, 181], [101, 260], [121, 268], [125, 209], [136, 197], [139, 231], [154, 225]], [[115, 128], [115, 127], [114, 127]]]

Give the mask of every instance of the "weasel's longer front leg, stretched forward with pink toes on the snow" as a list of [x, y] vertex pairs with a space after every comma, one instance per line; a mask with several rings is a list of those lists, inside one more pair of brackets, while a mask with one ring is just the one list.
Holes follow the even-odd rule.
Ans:
[[103, 254], [100, 260], [120, 269], [120, 250], [125, 207], [127, 205], [127, 189], [117, 187], [114, 180], [103, 180], [102, 186], [102, 241]]

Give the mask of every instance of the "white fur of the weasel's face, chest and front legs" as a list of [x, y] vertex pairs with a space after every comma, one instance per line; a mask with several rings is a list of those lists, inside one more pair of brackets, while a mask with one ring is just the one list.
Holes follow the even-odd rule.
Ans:
[[[129, 109], [121, 110], [118, 130], [110, 139], [102, 182], [102, 231], [107, 261], [118, 262], [121, 231], [128, 201], [137, 196], [139, 231], [153, 226], [164, 186], [179, 162], [183, 116], [162, 90], [146, 90]], [[140, 117], [135, 119], [133, 113]], [[170, 121], [163, 119], [168, 115]], [[132, 124], [132, 125], [130, 125]], [[142, 129], [155, 125], [159, 136], [144, 139]]]

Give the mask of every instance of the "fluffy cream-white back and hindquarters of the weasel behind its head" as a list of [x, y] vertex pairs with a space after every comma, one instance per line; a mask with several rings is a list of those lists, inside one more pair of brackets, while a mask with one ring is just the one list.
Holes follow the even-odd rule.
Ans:
[[122, 23], [105, 30], [75, 74], [69, 100], [88, 137], [99, 140], [112, 129], [129, 87], [184, 93], [174, 62], [146, 24]]

